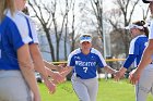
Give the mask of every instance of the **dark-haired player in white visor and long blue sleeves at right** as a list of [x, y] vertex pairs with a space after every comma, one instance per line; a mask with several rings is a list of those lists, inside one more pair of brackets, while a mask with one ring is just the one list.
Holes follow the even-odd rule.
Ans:
[[[121, 77], [129, 66], [134, 63], [134, 67], [138, 66], [143, 50], [148, 46], [148, 35], [149, 30], [144, 27], [144, 21], [133, 22], [128, 26], [128, 29], [131, 33], [132, 40], [130, 42], [129, 56], [127, 58], [123, 66], [119, 71], [119, 77]], [[153, 64], [150, 63], [146, 68], [143, 71], [139, 83], [136, 85], [136, 101], [145, 101], [148, 93], [152, 90], [152, 78], [153, 77]]]

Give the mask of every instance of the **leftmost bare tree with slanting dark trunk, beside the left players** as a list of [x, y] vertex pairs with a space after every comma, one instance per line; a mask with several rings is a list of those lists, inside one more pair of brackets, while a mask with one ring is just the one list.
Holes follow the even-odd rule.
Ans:
[[[50, 38], [50, 26], [51, 26], [51, 23], [52, 23], [52, 22], [50, 22], [51, 18], [52, 18], [51, 17], [51, 12], [50, 12], [51, 10], [49, 10], [49, 8], [47, 8], [42, 1], [40, 1], [40, 3], [38, 3], [36, 0], [33, 0], [33, 2], [31, 2], [28, 0], [28, 4], [35, 13], [34, 17], [36, 17], [43, 26], [43, 29], [44, 29], [44, 31], [47, 36], [47, 40], [48, 40], [48, 43], [49, 43], [51, 59], [52, 59], [52, 61], [56, 61], [56, 59], [55, 59], [55, 48], [54, 48], [54, 45], [52, 45], [51, 38]], [[40, 4], [42, 4], [42, 7], [40, 7]], [[45, 12], [47, 12], [48, 16], [45, 16], [43, 14], [43, 10], [45, 10]]]

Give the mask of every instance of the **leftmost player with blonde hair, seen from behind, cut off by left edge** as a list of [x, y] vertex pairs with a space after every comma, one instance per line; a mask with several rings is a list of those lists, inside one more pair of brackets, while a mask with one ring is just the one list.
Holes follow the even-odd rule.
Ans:
[[19, 12], [24, 4], [0, 0], [0, 101], [40, 101], [28, 50], [32, 39]]

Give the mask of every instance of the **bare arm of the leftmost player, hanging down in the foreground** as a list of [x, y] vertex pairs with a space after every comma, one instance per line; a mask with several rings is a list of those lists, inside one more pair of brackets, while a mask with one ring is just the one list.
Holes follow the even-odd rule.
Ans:
[[17, 61], [23, 77], [25, 78], [27, 85], [30, 86], [34, 94], [34, 101], [40, 101], [40, 94], [34, 75], [34, 65], [32, 63], [28, 45], [24, 45], [17, 49]]

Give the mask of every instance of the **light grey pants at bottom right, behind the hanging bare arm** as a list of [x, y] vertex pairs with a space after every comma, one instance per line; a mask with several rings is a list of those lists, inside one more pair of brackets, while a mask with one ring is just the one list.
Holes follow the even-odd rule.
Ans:
[[139, 83], [136, 85], [136, 101], [146, 101], [148, 93], [153, 86], [153, 67], [148, 67], [142, 72]]

